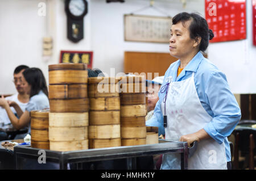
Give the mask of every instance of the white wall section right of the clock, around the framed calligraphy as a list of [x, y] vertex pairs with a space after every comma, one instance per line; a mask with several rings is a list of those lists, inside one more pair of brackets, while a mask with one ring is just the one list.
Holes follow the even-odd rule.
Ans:
[[[169, 52], [168, 43], [139, 43], [124, 41], [123, 15], [149, 6], [150, 1], [126, 0], [125, 3], [105, 3], [105, 0], [91, 1], [92, 49], [94, 52], [94, 68], [99, 68], [108, 75], [115, 68], [115, 74], [123, 72], [123, 54], [125, 51], [138, 52]], [[152, 8], [134, 12], [134, 14], [170, 16], [184, 11], [179, 0], [155, 1]], [[204, 14], [203, 1], [189, 1], [187, 11], [197, 11]]]

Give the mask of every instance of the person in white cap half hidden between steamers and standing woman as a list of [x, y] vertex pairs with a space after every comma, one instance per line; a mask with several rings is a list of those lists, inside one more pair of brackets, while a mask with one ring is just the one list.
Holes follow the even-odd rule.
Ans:
[[158, 91], [163, 83], [164, 76], [155, 77], [152, 81], [147, 80], [147, 116], [146, 121], [154, 114], [155, 104], [158, 102]]

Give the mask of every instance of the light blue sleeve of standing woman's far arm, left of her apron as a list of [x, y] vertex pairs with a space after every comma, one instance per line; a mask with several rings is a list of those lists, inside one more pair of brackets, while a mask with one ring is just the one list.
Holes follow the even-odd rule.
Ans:
[[146, 121], [147, 127], [158, 127], [158, 134], [164, 135], [164, 127], [163, 127], [163, 115], [160, 110], [160, 100], [156, 103], [154, 115], [151, 117], [150, 120]]

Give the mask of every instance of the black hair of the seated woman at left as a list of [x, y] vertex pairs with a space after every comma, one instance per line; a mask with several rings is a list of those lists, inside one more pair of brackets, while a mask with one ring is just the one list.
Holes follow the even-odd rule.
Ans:
[[23, 71], [23, 76], [31, 86], [30, 98], [39, 93], [40, 90], [48, 96], [46, 78], [39, 68], [29, 68]]

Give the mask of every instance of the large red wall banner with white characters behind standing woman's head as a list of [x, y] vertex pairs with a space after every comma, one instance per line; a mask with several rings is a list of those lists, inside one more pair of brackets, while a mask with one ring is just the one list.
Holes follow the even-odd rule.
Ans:
[[205, 0], [210, 43], [246, 39], [246, 0]]

